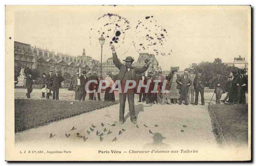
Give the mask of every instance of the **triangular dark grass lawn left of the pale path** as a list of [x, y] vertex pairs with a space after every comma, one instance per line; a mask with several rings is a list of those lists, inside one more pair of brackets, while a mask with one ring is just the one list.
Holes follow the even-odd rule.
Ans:
[[118, 102], [15, 99], [15, 132], [46, 125]]

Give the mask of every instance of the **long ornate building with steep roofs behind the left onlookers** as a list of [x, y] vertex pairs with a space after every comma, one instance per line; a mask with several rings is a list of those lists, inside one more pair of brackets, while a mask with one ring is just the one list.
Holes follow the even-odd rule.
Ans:
[[14, 41], [14, 66], [15, 70], [19, 70], [20, 67], [38, 69], [41, 74], [52, 69], [62, 73], [68, 72], [73, 76], [79, 71], [79, 67], [81, 71], [100, 72], [100, 61], [86, 56], [85, 49], [82, 56], [75, 57], [63, 53], [55, 54], [54, 51], [31, 47], [30, 44], [17, 41]]

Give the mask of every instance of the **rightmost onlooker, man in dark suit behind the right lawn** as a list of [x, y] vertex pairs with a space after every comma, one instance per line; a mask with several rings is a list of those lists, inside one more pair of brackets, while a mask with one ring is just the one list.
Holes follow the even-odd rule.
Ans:
[[240, 75], [237, 78], [237, 100], [236, 103], [245, 104], [246, 97], [245, 92], [248, 84], [248, 79], [244, 76], [244, 70], [240, 71]]

